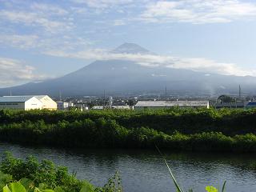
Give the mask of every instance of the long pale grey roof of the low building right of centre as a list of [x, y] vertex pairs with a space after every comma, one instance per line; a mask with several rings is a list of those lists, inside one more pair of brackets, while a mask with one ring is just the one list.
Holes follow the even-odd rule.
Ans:
[[208, 106], [208, 101], [138, 101], [135, 107]]

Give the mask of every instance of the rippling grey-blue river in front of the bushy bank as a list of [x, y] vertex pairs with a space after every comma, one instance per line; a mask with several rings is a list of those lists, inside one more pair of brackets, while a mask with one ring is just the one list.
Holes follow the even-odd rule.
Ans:
[[[33, 154], [67, 166], [77, 177], [102, 186], [118, 170], [125, 192], [176, 191], [162, 158], [154, 150], [60, 150], [0, 143], [0, 152], [11, 151], [15, 157]], [[222, 186], [227, 192], [256, 191], [256, 155], [164, 152], [184, 190], [205, 192], [205, 186]]]

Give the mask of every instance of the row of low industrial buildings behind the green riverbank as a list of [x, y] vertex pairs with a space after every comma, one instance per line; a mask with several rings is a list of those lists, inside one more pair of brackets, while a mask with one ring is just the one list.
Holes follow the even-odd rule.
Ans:
[[[163, 109], [178, 106], [180, 108], [209, 108], [209, 101], [138, 101], [134, 106], [92, 106], [91, 110], [145, 110]], [[215, 108], [254, 108], [256, 102], [216, 103]], [[18, 110], [89, 110], [84, 104], [74, 105], [72, 102], [54, 102], [47, 95], [3, 96], [0, 97], [0, 109]]]

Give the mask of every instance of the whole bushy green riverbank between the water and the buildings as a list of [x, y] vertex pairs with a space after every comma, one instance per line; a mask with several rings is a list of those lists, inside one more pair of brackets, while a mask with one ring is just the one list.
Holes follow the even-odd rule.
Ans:
[[256, 151], [256, 110], [0, 111], [0, 140], [29, 145]]

